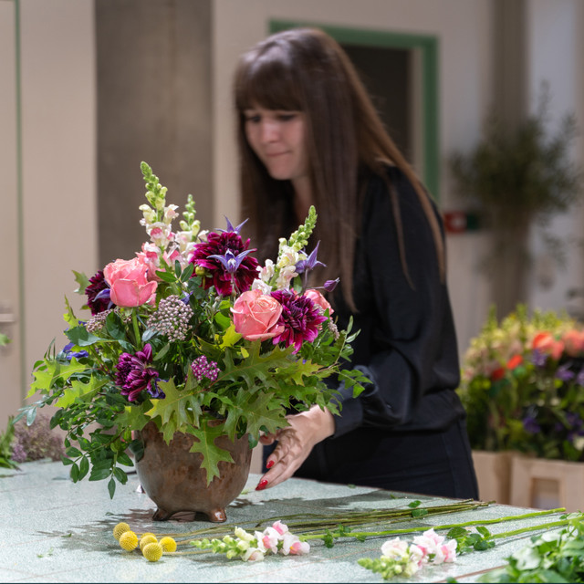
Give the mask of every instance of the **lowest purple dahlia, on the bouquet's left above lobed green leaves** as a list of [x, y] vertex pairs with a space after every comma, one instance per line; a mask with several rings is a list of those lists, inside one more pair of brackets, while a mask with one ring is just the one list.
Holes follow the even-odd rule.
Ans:
[[158, 371], [149, 367], [152, 360], [150, 344], [136, 352], [121, 353], [118, 360], [116, 385], [120, 386], [122, 395], [128, 396], [128, 401], [136, 401], [141, 391], [148, 391], [153, 398], [164, 398], [164, 392], [158, 387]]

